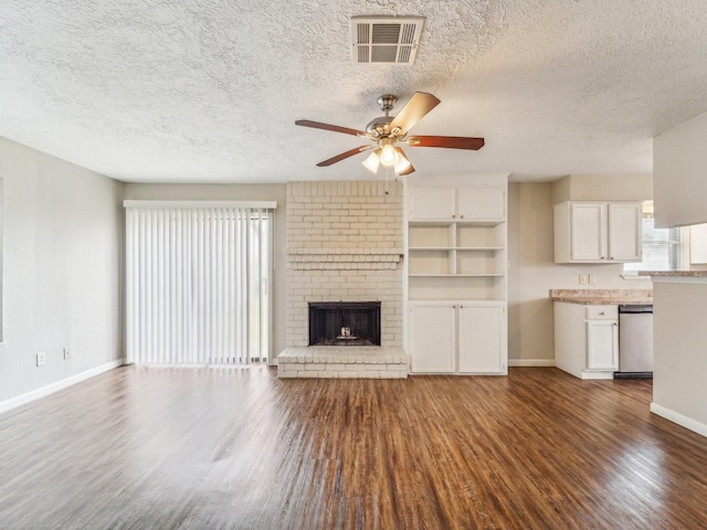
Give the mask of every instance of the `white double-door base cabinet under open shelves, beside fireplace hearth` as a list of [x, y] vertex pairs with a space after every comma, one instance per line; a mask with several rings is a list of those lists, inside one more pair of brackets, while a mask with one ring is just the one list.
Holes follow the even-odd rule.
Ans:
[[411, 371], [506, 374], [506, 329], [505, 303], [411, 303]]

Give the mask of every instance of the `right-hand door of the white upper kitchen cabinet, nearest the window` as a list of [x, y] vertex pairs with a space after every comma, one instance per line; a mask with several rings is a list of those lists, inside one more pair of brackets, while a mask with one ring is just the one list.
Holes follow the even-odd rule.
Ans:
[[609, 259], [640, 262], [643, 247], [641, 203], [609, 203]]

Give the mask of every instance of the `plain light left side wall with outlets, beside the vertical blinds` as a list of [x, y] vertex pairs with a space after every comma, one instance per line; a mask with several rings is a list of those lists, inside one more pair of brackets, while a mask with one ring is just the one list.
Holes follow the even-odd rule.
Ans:
[[123, 184], [3, 138], [0, 178], [2, 403], [122, 359]]

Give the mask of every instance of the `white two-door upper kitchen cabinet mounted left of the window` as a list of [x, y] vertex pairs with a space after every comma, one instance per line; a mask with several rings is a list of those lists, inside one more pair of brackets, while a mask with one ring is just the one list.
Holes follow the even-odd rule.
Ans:
[[642, 259], [641, 202], [562, 202], [555, 205], [555, 263]]

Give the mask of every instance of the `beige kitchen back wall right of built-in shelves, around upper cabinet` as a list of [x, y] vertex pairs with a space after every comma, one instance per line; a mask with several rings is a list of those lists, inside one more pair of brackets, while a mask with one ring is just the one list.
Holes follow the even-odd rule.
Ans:
[[[591, 177], [587, 177], [580, 187], [593, 190], [589, 186], [591, 180]], [[616, 180], [619, 183], [612, 184]], [[650, 195], [650, 183], [647, 191], [639, 186], [627, 195], [620, 177], [601, 177], [600, 181], [603, 186], [595, 186], [605, 200], [639, 200], [640, 195]], [[569, 182], [511, 183], [508, 187], [508, 359], [511, 365], [552, 363], [555, 325], [550, 289], [652, 287], [648, 279], [623, 279], [621, 264], [553, 263], [552, 206], [557, 202], [556, 186], [566, 187]], [[570, 190], [566, 192], [570, 193]], [[570, 197], [573, 200], [591, 200], [581, 194], [581, 189], [572, 193]], [[580, 274], [594, 275], [595, 285], [580, 286]]]

